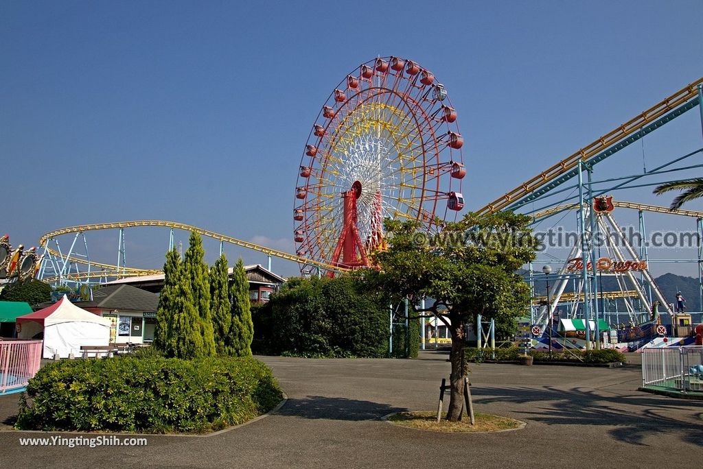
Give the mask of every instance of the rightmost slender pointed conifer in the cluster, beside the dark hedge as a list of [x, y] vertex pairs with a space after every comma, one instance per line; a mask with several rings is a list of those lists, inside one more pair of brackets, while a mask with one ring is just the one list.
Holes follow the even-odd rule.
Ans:
[[232, 302], [232, 323], [228, 335], [228, 355], [251, 357], [254, 324], [252, 323], [251, 303], [249, 301], [249, 281], [244, 263], [240, 258], [232, 275], [230, 298]]

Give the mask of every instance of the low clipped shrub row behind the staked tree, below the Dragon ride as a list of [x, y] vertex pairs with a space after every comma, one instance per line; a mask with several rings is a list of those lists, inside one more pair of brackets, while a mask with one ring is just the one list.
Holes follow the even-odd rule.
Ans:
[[[479, 350], [475, 347], [465, 348], [465, 358], [470, 362], [484, 362], [491, 358], [491, 350]], [[520, 350], [516, 346], [508, 348], [496, 348], [495, 359], [498, 362], [514, 362], [520, 357]], [[542, 350], [530, 350], [527, 355], [534, 357], [535, 362], [563, 362], [563, 363], [588, 363], [602, 364], [613, 362], [625, 362], [625, 355], [617, 350], [569, 350], [568, 352], [544, 352]]]

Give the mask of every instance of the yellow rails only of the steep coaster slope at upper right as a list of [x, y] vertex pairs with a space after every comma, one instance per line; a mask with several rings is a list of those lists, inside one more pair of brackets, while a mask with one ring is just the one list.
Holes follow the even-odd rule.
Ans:
[[657, 103], [642, 114], [639, 114], [637, 117], [630, 119], [609, 133], [606, 133], [590, 145], [586, 145], [586, 147], [581, 148], [578, 152], [565, 159], [562, 159], [562, 161], [559, 161], [550, 169], [542, 171], [538, 174], [538, 176], [525, 181], [521, 185], [515, 187], [515, 189], [510, 192], [506, 192], [503, 196], [494, 200], [494, 202], [491, 202], [481, 209], [478, 209], [477, 213], [493, 213], [503, 210], [512, 202], [522, 199], [522, 197], [529, 195], [530, 192], [533, 192], [539, 187], [542, 187], [556, 178], [559, 178], [563, 174], [576, 168], [579, 164], [579, 160], [588, 161], [589, 158], [604, 150], [607, 150], [608, 147], [618, 143], [620, 140], [623, 140], [627, 136], [638, 131], [643, 126], [656, 121], [667, 112], [674, 110], [676, 107], [687, 103], [693, 98], [696, 98], [698, 93], [697, 86], [702, 83], [703, 78], [697, 79], [692, 84], [682, 88], [676, 93], [673, 93], [673, 95], [669, 96], [669, 98], [662, 100], [661, 103]]

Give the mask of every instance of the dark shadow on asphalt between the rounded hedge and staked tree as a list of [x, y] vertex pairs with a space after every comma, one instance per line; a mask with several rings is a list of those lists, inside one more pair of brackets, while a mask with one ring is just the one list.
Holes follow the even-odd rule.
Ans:
[[392, 412], [407, 411], [403, 407], [392, 407], [378, 402], [359, 401], [344, 397], [307, 396], [291, 399], [273, 415], [299, 418], [327, 418], [329, 420], [378, 420]]

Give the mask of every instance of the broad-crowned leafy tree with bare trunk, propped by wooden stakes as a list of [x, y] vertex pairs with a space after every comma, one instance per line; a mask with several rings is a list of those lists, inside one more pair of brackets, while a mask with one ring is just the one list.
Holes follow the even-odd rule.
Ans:
[[[517, 317], [529, 305], [529, 286], [517, 269], [533, 260], [536, 239], [529, 217], [512, 212], [479, 216], [468, 213], [446, 223], [440, 237], [426, 237], [413, 221], [386, 220], [387, 251], [375, 253], [380, 270], [368, 271], [368, 281], [398, 301], [409, 298], [415, 312], [432, 313], [451, 332], [451, 399], [446, 418], [457, 421], [463, 409], [463, 325], [480, 314], [484, 318]], [[434, 298], [420, 309], [420, 298]], [[446, 310], [440, 312], [440, 307]]]

